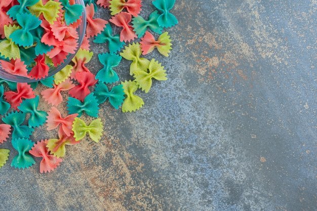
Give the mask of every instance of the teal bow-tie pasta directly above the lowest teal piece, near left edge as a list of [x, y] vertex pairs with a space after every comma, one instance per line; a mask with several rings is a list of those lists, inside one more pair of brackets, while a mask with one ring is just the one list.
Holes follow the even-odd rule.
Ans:
[[20, 111], [13, 111], [8, 113], [2, 120], [6, 124], [10, 124], [13, 129], [12, 139], [17, 139], [19, 137], [28, 138], [32, 135], [34, 129], [29, 128], [27, 125], [21, 125], [25, 120], [25, 113]]

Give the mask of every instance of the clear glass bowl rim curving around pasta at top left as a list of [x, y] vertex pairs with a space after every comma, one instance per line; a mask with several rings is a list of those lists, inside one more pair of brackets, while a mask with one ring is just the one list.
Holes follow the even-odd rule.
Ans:
[[[5, 79], [5, 80], [9, 80], [9, 81], [14, 81], [14, 82], [27, 82], [27, 83], [35, 82], [35, 81], [43, 80], [45, 78], [53, 76], [58, 71], [62, 70], [67, 64], [69, 64], [83, 43], [83, 39], [84, 39], [85, 32], [86, 32], [86, 24], [87, 24], [87, 22], [86, 22], [86, 9], [85, 9], [84, 0], [75, 0], [75, 4], [82, 5], [84, 7], [84, 10], [83, 10], [81, 23], [78, 25], [78, 27], [76, 29], [77, 33], [78, 33], [78, 40], [77, 40], [78, 47], [76, 48], [74, 54], [68, 54], [66, 59], [58, 66], [51, 65], [48, 75], [44, 78], [35, 79], [35, 78], [28, 78], [28, 77], [24, 77], [24, 76], [14, 75], [14, 74], [11, 74], [11, 73], [7, 72], [6, 70], [4, 70], [1, 66], [0, 66], [0, 78]], [[1, 60], [1, 58], [0, 58], [0, 60]]]

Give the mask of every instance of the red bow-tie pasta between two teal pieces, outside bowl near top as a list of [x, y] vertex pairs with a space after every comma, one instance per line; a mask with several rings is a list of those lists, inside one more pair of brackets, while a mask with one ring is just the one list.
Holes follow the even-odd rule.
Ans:
[[130, 13], [121, 12], [112, 16], [109, 20], [116, 26], [123, 27], [122, 31], [120, 32], [120, 41], [131, 41], [137, 38], [138, 36], [133, 31], [133, 28], [129, 23], [131, 22], [132, 16]]

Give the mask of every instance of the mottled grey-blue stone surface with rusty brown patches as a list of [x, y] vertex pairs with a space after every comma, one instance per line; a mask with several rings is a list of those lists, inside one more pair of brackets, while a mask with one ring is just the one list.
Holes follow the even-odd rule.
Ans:
[[[137, 92], [137, 112], [103, 104], [99, 143], [67, 146], [49, 174], [39, 159], [11, 167], [16, 151], [0, 145], [1, 210], [316, 210], [317, 1], [177, 0], [171, 12], [170, 56], [146, 56], [169, 79]], [[92, 72], [106, 49], [92, 46]], [[32, 140], [44, 138], [57, 132]]]

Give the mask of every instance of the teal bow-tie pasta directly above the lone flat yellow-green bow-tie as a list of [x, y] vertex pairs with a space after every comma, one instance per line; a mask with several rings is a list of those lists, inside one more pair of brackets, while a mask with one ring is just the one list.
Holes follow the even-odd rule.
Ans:
[[72, 97], [69, 97], [67, 102], [67, 110], [69, 111], [69, 114], [77, 113], [78, 117], [80, 117], [83, 112], [89, 116], [98, 117], [98, 106], [99, 104], [94, 96], [94, 93], [87, 95], [84, 102]]

